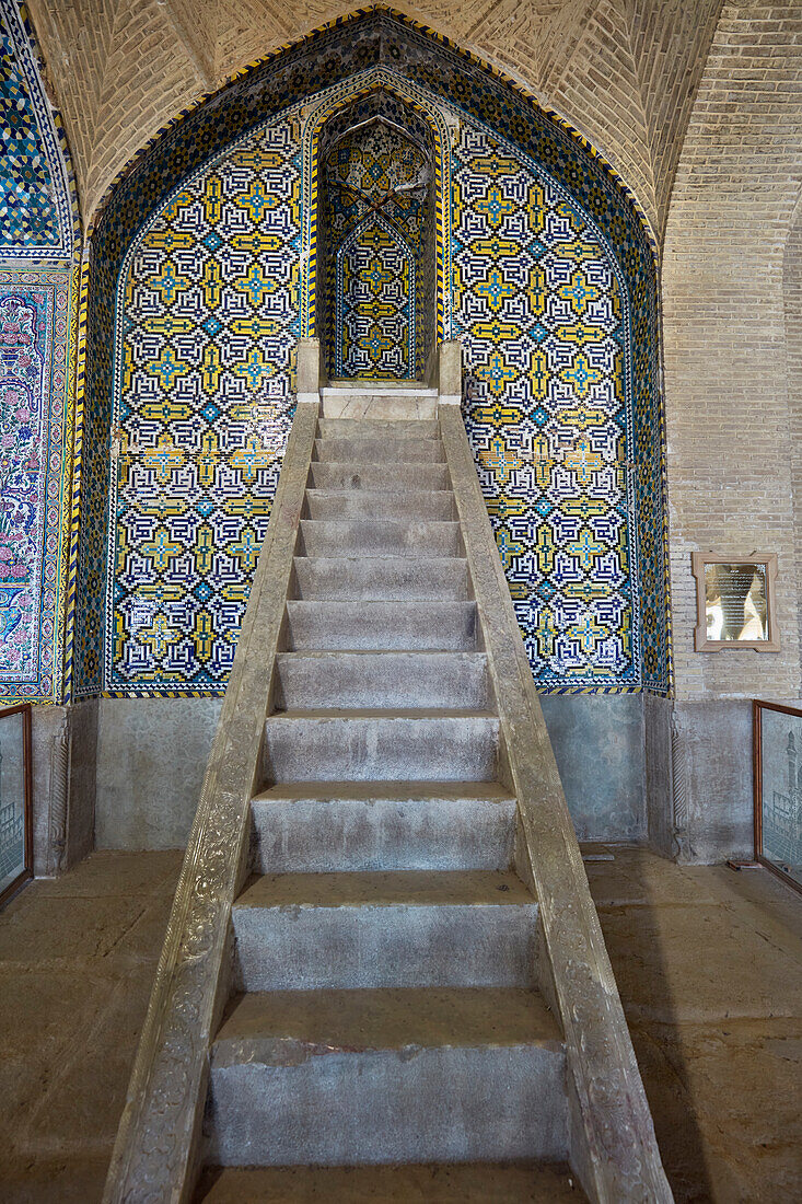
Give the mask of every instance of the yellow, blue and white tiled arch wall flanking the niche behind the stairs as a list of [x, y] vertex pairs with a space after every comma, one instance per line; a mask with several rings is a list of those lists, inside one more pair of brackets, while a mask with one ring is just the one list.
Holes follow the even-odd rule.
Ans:
[[[265, 393], [269, 362], [282, 366], [276, 388], [287, 394], [291, 385], [291, 265], [307, 220], [294, 189], [299, 170], [303, 177], [316, 169], [308, 122], [300, 143], [293, 134], [283, 148], [270, 147], [270, 164], [254, 157], [261, 134], [230, 154], [225, 144], [267, 102], [278, 108], [283, 100], [290, 114], [270, 128], [293, 129], [296, 110], [287, 102], [297, 93], [303, 101], [305, 72], [309, 88], [328, 78], [326, 63], [343, 72], [331, 88], [337, 102], [365, 90], [367, 64], [377, 84], [414, 98], [453, 131], [444, 160], [453, 203], [441, 225], [454, 234], [441, 246], [440, 308], [446, 329], [453, 309], [464, 335], [466, 417], [541, 684], [665, 691], [648, 240], [608, 170], [568, 131], [452, 48], [373, 14], [258, 69], [247, 88], [234, 84], [218, 98], [213, 122], [189, 114], [119, 185], [99, 225], [79, 692], [225, 685], [278, 467], [275, 456], [256, 464], [258, 441], [248, 450], [253, 415], [242, 407], [253, 390], [275, 400]], [[275, 197], [270, 206], [263, 193]], [[316, 193], [305, 177], [301, 197]], [[284, 276], [265, 272], [271, 255]], [[281, 320], [271, 309], [269, 335], [259, 307], [272, 278]], [[271, 338], [277, 349], [266, 356]]]

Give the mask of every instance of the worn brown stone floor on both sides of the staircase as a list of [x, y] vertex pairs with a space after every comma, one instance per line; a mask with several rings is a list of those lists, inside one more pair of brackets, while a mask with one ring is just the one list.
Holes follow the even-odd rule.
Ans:
[[[100, 1199], [179, 860], [98, 852], [0, 915], [4, 1204]], [[677, 1200], [802, 1200], [802, 897], [631, 849], [588, 874]]]

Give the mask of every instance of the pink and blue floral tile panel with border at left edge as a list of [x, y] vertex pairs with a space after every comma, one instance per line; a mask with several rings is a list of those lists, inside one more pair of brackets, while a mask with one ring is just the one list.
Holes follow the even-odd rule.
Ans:
[[0, 271], [0, 703], [61, 683], [70, 272]]

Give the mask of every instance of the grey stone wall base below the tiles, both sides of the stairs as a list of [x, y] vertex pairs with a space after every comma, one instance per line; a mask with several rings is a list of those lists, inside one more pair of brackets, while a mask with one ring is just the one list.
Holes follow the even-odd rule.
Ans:
[[[580, 840], [648, 843], [684, 863], [751, 856], [748, 700], [547, 695], [541, 703]], [[99, 849], [185, 845], [220, 706], [220, 698], [101, 698], [72, 708], [70, 863], [90, 848], [93, 815]], [[65, 712], [39, 710], [37, 873], [53, 873], [42, 868], [49, 759]]]

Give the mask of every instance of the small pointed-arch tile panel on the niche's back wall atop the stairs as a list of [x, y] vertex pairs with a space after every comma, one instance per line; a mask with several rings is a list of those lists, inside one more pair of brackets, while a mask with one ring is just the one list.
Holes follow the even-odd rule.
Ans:
[[335, 371], [414, 379], [415, 260], [397, 231], [368, 217], [337, 248]]

